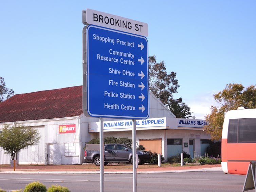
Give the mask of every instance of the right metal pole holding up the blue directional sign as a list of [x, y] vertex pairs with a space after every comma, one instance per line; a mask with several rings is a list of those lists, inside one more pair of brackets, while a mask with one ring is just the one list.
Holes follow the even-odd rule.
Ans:
[[133, 171], [133, 192], [137, 191], [137, 162], [136, 162], [136, 119], [132, 119], [132, 171]]

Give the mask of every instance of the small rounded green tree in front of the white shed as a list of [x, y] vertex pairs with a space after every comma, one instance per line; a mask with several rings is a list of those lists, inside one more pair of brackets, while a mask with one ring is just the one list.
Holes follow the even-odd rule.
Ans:
[[39, 131], [33, 128], [15, 125], [5, 125], [0, 131], [0, 147], [14, 160], [15, 154], [28, 146], [33, 146], [40, 140]]

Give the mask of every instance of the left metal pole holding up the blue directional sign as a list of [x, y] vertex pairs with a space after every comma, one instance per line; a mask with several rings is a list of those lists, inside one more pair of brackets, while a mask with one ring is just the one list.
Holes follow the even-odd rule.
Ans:
[[104, 134], [103, 134], [103, 118], [99, 118], [99, 159], [100, 159], [100, 192], [104, 192]]

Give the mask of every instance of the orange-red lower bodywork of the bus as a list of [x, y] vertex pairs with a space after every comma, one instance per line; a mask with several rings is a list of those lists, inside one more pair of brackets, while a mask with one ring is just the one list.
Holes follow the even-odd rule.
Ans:
[[227, 143], [228, 173], [246, 175], [250, 161], [256, 160], [256, 143]]

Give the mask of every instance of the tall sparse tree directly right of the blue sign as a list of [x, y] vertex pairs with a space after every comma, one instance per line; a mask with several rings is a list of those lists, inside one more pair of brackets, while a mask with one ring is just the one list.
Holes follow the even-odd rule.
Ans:
[[157, 62], [156, 56], [150, 56], [148, 61], [149, 68], [149, 90], [165, 105], [169, 103], [173, 93], [177, 93], [178, 80], [176, 73], [167, 73], [164, 61]]

